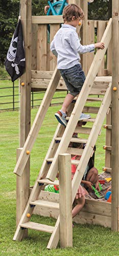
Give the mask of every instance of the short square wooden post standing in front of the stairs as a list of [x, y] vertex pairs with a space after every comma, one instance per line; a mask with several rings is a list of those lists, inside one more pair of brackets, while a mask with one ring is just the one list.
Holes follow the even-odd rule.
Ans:
[[60, 246], [73, 247], [70, 154], [59, 155]]

